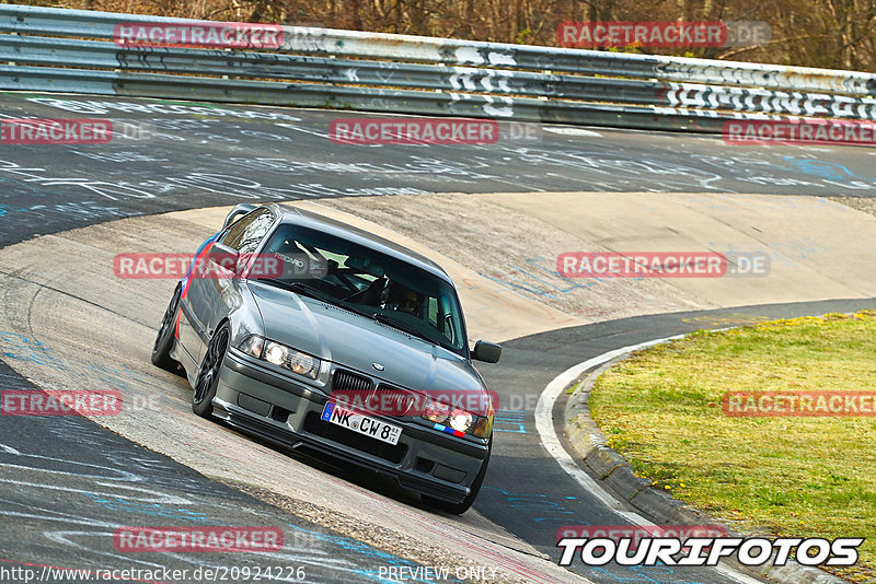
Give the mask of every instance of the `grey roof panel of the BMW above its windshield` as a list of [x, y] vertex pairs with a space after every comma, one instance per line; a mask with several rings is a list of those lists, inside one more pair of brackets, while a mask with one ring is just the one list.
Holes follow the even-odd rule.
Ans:
[[341, 237], [342, 240], [347, 240], [361, 246], [369, 247], [395, 259], [413, 264], [414, 266], [426, 270], [451, 284], [453, 283], [445, 269], [438, 264], [422, 254], [417, 254], [413, 249], [408, 249], [403, 245], [396, 244], [395, 242], [391, 242], [360, 227], [350, 225], [349, 223], [344, 223], [343, 221], [337, 221], [307, 209], [286, 207], [278, 203], [270, 203], [266, 207], [270, 209], [275, 215], [279, 217], [280, 222], [284, 224], [301, 225], [328, 233], [336, 237]]

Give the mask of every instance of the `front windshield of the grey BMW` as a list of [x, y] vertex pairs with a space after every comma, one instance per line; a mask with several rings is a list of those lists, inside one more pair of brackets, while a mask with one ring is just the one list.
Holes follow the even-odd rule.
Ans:
[[263, 254], [284, 264], [264, 279], [365, 314], [466, 357], [453, 287], [412, 264], [342, 237], [280, 225]]

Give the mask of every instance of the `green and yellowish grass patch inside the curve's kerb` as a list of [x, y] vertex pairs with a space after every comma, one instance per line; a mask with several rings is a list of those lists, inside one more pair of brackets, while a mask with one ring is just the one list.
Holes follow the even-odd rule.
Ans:
[[876, 581], [876, 418], [731, 418], [726, 392], [876, 390], [876, 312], [695, 332], [633, 354], [590, 396], [637, 475], [741, 532], [867, 537]]

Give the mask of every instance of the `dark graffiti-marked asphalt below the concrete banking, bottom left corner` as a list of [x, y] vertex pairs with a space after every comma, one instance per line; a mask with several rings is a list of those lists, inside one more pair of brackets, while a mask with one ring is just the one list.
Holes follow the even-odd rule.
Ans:
[[[0, 379], [4, 389], [35, 389], [5, 363], [0, 363]], [[4, 416], [0, 484], [2, 582], [25, 582], [22, 570], [33, 571], [31, 582], [94, 582], [96, 570], [146, 571], [112, 579], [116, 582], [197, 582], [211, 580], [205, 570], [228, 580], [231, 568], [263, 577], [291, 574], [302, 582], [374, 582], [381, 568], [417, 568], [210, 480], [79, 416]], [[115, 548], [117, 527], [154, 525], [268, 527], [283, 532], [284, 546], [278, 552], [197, 554]], [[77, 571], [85, 570], [91, 577], [77, 577]]]

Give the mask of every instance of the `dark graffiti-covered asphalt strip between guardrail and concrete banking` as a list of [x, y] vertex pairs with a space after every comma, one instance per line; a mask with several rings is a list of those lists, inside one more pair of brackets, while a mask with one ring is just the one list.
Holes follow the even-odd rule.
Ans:
[[494, 144], [346, 145], [328, 139], [331, 120], [346, 112], [16, 92], [0, 93], [0, 110], [105, 118], [116, 129], [108, 144], [0, 145], [0, 245], [247, 200], [540, 190], [865, 197], [875, 178], [867, 148], [727, 147], [684, 133], [502, 122]]

